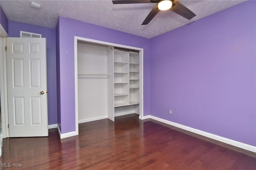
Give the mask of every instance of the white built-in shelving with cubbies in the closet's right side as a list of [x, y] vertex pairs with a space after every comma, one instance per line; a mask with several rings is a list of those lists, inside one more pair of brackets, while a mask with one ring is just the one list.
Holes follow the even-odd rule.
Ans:
[[140, 103], [139, 61], [138, 52], [114, 50], [114, 107]]

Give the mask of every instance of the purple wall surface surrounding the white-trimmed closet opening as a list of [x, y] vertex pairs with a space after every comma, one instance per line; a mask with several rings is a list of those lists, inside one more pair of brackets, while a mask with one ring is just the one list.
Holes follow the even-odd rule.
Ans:
[[149, 114], [149, 39], [128, 33], [59, 18], [61, 133], [75, 131], [74, 36], [144, 49], [144, 115]]

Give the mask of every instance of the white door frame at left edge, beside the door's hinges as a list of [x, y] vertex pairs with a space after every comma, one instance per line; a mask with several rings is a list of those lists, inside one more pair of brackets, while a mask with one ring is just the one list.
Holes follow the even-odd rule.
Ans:
[[2, 132], [3, 138], [9, 137], [8, 130], [8, 107], [7, 107], [7, 70], [6, 70], [6, 37], [8, 34], [4, 30], [4, 27], [0, 24], [0, 36], [1, 36], [1, 47], [0, 47], [0, 88], [1, 88], [1, 120], [2, 120]]

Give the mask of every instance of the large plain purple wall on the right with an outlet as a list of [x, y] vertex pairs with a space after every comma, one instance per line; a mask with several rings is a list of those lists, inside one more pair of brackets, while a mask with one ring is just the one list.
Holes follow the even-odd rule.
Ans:
[[255, 9], [244, 2], [150, 39], [150, 115], [256, 146]]

